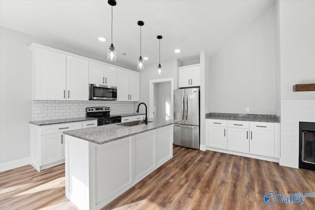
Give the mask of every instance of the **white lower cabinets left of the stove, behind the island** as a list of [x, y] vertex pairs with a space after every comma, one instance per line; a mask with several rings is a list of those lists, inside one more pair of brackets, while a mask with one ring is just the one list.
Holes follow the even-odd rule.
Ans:
[[31, 165], [41, 171], [64, 163], [63, 131], [92, 126], [97, 126], [97, 120], [44, 126], [30, 124]]

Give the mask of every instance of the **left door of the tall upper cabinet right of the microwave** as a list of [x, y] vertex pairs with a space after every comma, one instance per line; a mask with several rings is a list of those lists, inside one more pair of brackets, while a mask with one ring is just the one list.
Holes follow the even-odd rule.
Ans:
[[129, 72], [117, 69], [117, 101], [130, 101], [129, 98]]

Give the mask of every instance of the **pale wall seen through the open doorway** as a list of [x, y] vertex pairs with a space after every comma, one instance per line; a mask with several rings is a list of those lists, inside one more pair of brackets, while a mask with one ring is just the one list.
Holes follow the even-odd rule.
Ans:
[[[171, 118], [171, 82], [162, 82], [154, 84], [154, 93], [156, 98], [156, 118], [168, 120]], [[168, 104], [169, 106], [167, 107]]]

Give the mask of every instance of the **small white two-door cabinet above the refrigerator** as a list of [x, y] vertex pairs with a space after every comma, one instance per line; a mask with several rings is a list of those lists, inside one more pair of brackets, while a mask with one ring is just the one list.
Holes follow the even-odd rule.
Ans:
[[200, 86], [200, 64], [178, 67], [178, 87]]

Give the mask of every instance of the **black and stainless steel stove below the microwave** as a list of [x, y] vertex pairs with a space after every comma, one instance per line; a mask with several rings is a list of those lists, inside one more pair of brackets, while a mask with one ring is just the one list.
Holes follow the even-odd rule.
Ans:
[[122, 122], [122, 116], [110, 115], [109, 107], [88, 107], [86, 111], [87, 117], [97, 118], [97, 126]]

